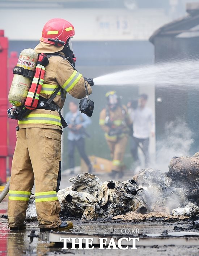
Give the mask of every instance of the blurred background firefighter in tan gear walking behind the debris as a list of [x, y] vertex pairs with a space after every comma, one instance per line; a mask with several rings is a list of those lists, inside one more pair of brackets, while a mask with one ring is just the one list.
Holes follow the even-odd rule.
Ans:
[[106, 93], [107, 106], [100, 113], [99, 124], [105, 131], [105, 138], [112, 158], [111, 177], [122, 178], [123, 157], [128, 134], [132, 134], [132, 122], [128, 117], [126, 106], [119, 102], [115, 91]]

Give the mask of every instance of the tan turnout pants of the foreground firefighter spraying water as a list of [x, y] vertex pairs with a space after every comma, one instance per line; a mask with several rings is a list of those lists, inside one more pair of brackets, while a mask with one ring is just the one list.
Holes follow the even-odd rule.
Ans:
[[10, 177], [9, 227], [17, 227], [24, 222], [34, 182], [39, 226], [56, 228], [61, 224], [56, 194], [60, 183], [60, 160], [60, 130], [23, 128], [17, 131]]

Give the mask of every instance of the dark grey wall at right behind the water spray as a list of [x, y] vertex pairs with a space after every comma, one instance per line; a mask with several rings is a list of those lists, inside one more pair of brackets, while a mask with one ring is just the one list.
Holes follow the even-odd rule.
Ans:
[[[199, 37], [178, 38], [173, 36], [157, 36], [154, 40], [154, 47], [156, 63], [164, 61], [198, 61], [199, 58]], [[195, 66], [193, 66], [193, 68], [195, 68]], [[194, 77], [191, 77], [191, 79], [194, 79]], [[157, 81], [158, 80], [159, 78], [157, 77]], [[194, 139], [190, 153], [194, 154], [199, 150], [198, 97], [199, 88], [197, 80], [195, 81], [195, 86], [193, 86], [193, 84], [187, 84], [184, 85], [183, 88], [178, 84], [164, 87], [156, 83], [155, 98], [157, 141], [161, 141], [162, 139], [170, 136], [166, 129], [166, 124], [173, 121], [175, 122], [176, 120], [181, 120], [182, 123], [187, 123], [190, 131], [192, 132], [192, 138]], [[158, 102], [157, 98], [161, 98], [162, 102]]]

